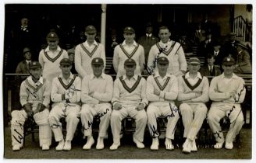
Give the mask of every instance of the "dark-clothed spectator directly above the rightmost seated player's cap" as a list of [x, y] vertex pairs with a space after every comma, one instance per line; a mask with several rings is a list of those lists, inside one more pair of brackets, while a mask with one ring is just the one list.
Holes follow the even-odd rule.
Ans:
[[229, 33], [229, 40], [224, 43], [224, 53], [229, 54], [229, 57], [233, 57], [236, 60], [237, 57], [237, 50], [236, 50], [236, 44], [239, 41], [236, 40], [236, 33]]

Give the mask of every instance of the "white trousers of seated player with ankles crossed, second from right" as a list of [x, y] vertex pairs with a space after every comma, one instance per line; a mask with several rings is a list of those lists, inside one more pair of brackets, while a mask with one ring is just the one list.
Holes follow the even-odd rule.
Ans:
[[184, 126], [183, 137], [195, 140], [198, 131], [204, 123], [207, 110], [204, 103], [182, 103], [180, 105], [180, 113]]

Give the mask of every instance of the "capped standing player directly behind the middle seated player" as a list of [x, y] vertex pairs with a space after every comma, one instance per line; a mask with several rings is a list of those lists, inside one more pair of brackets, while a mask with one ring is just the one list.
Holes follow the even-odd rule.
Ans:
[[117, 74], [116, 77], [119, 78], [126, 74], [123, 64], [131, 58], [136, 61], [135, 74], [141, 75], [145, 63], [144, 48], [134, 40], [135, 30], [133, 27], [126, 26], [123, 30], [123, 37], [125, 39], [123, 43], [114, 49], [113, 67]]

